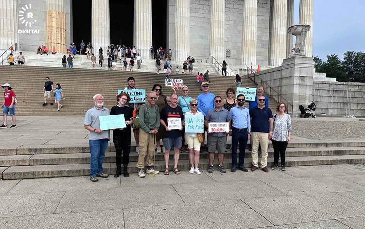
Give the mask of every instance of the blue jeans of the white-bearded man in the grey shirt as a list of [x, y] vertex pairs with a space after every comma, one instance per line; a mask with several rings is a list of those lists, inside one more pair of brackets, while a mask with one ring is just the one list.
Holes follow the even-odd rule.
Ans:
[[102, 173], [102, 164], [105, 157], [105, 149], [108, 147], [108, 139], [89, 140], [90, 145], [90, 177]]

